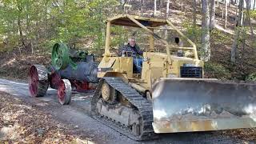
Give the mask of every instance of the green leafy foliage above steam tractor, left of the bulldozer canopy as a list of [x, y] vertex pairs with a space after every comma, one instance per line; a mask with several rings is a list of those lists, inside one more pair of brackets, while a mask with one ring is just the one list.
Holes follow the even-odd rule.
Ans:
[[[73, 44], [94, 38], [91, 46], [102, 48], [105, 23], [118, 0], [1, 0], [0, 43], [7, 47], [33, 42], [34, 47], [52, 47], [56, 42]], [[20, 33], [21, 32], [21, 33]]]

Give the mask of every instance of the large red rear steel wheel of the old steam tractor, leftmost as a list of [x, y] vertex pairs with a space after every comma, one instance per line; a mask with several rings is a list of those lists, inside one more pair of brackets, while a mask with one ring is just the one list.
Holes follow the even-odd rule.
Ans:
[[43, 97], [48, 90], [48, 72], [45, 66], [33, 65], [29, 71], [29, 90], [31, 97]]

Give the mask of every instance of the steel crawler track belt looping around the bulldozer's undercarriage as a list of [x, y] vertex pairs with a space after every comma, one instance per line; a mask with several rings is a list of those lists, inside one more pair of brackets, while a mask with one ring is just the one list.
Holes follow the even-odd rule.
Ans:
[[[103, 82], [106, 81], [110, 86], [115, 90], [118, 90], [119, 93], [123, 95], [130, 103], [132, 103], [139, 111], [139, 114], [142, 117], [142, 132], [139, 136], [136, 136], [131, 133], [131, 131], [126, 126], [122, 126], [119, 122], [107, 118], [103, 115], [99, 115], [96, 112], [96, 104], [101, 95], [101, 88]], [[149, 140], [157, 138], [157, 134], [154, 133], [152, 122], [153, 122], [153, 108], [152, 103], [146, 98], [143, 98], [138, 91], [134, 90], [131, 86], [127, 85], [122, 81], [122, 78], [110, 78], [105, 77], [100, 80], [98, 83], [97, 89], [94, 93], [93, 98], [91, 99], [91, 110], [94, 112], [94, 118], [98, 121], [110, 126], [114, 130], [117, 130], [119, 133], [126, 135], [129, 138], [132, 138], [137, 141]]]

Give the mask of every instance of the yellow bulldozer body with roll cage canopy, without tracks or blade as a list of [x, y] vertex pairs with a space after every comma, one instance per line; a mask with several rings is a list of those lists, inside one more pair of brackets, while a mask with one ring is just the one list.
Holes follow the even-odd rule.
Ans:
[[[144, 26], [141, 22], [148, 22], [149, 26]], [[142, 63], [142, 74], [140, 77], [136, 77], [136, 75], [133, 74], [133, 58], [117, 57], [116, 54], [110, 52], [110, 27], [112, 25], [138, 27], [150, 34], [150, 49], [143, 53], [143, 58], [146, 59], [146, 61]], [[160, 38], [154, 33], [154, 29], [160, 29], [158, 26], [165, 25], [170, 26], [171, 30], [176, 31], [191, 47], [170, 47], [165, 39]], [[166, 54], [154, 52], [154, 38], [157, 38], [166, 46]], [[192, 50], [194, 58], [175, 57], [170, 54], [170, 49]], [[127, 14], [107, 19], [106, 46], [103, 56], [102, 62], [98, 66], [98, 78], [110, 76], [110, 74], [115, 74], [115, 76], [118, 74], [126, 81], [129, 81], [132, 86], [135, 86], [136, 90], [142, 90], [142, 92], [151, 90], [152, 84], [157, 81], [158, 78], [179, 78], [179, 68], [185, 63], [193, 64], [194, 66], [203, 66], [203, 62], [198, 59], [198, 52], [194, 42], [182, 34], [169, 20], [145, 18]]]

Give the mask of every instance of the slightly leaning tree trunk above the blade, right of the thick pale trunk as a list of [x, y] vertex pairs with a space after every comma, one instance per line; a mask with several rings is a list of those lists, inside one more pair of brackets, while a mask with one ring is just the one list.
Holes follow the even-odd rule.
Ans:
[[238, 22], [234, 30], [234, 42], [231, 48], [231, 54], [230, 54], [230, 61], [235, 63], [236, 62], [236, 53], [238, 49], [238, 38], [241, 30], [241, 22], [242, 22], [242, 13], [243, 13], [243, 0], [239, 0], [239, 12], [238, 12]]

